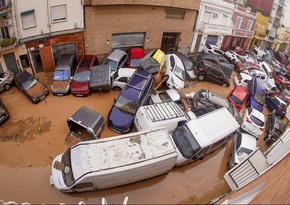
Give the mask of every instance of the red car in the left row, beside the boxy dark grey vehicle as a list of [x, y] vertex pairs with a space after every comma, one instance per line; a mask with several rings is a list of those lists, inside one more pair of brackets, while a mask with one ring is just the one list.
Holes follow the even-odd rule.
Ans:
[[80, 60], [73, 80], [71, 82], [71, 93], [74, 96], [85, 97], [91, 94], [90, 74], [94, 65], [98, 65], [98, 59], [94, 55], [85, 55]]

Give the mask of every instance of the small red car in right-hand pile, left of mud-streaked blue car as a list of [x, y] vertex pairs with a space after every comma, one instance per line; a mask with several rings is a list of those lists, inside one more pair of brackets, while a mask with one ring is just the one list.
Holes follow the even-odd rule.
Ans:
[[235, 87], [227, 96], [228, 100], [240, 111], [246, 104], [249, 91], [241, 86]]

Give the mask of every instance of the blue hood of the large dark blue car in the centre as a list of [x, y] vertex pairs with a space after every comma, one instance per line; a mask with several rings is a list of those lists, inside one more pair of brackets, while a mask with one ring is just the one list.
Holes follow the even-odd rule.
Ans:
[[113, 107], [108, 116], [108, 123], [113, 128], [124, 131], [131, 128], [135, 115], [121, 112], [118, 108]]

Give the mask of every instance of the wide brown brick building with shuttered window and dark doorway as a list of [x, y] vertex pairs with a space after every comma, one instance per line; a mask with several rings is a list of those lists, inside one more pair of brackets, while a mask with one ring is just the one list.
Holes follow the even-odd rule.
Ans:
[[84, 0], [85, 50], [102, 61], [112, 50], [188, 54], [199, 0]]

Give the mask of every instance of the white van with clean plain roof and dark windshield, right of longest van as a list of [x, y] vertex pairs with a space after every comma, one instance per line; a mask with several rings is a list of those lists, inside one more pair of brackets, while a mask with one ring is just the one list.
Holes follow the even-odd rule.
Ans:
[[171, 134], [178, 151], [176, 166], [202, 159], [225, 145], [239, 128], [239, 123], [225, 107], [176, 128]]

